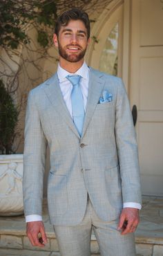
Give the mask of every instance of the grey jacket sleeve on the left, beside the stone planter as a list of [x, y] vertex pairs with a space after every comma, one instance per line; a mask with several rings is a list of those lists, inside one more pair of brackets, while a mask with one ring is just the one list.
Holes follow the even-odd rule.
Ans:
[[46, 144], [39, 111], [35, 102], [35, 93], [30, 91], [26, 109], [23, 152], [23, 203], [25, 215], [41, 215]]

